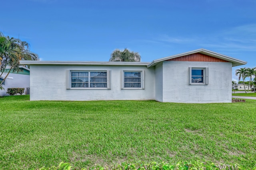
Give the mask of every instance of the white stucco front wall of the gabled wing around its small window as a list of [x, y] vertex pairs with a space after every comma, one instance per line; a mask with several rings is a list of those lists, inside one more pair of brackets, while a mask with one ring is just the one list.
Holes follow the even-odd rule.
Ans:
[[[208, 67], [208, 85], [189, 85], [189, 67]], [[163, 102], [228, 103], [231, 86], [232, 63], [163, 62]]]

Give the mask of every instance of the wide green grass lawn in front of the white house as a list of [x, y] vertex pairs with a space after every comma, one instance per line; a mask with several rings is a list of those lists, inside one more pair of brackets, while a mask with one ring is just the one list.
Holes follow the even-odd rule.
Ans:
[[70, 162], [193, 161], [256, 166], [256, 100], [30, 102], [0, 98], [0, 170]]

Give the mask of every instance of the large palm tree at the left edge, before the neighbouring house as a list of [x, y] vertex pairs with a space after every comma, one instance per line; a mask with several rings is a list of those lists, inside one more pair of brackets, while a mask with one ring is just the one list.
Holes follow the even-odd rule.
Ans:
[[3, 73], [7, 66], [10, 68], [0, 82], [0, 89], [2, 90], [2, 84], [11, 71], [19, 72], [20, 60], [38, 59], [38, 55], [30, 51], [30, 45], [26, 41], [20, 41], [20, 39], [4, 36], [0, 32], [0, 77], [4, 75]]

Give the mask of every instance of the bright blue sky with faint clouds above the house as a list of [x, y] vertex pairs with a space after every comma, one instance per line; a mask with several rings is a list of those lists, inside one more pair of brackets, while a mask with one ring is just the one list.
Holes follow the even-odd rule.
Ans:
[[5, 0], [0, 31], [44, 61], [141, 60], [208, 49], [256, 67], [256, 0]]

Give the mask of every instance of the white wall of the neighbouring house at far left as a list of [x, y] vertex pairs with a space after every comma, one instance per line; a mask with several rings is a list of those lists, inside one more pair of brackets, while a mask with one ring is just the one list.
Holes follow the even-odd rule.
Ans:
[[[4, 74], [2, 75], [2, 77], [5, 77]], [[9, 96], [9, 94], [6, 93], [8, 88], [24, 88], [23, 94], [26, 94], [26, 88], [30, 87], [29, 75], [10, 73], [8, 75], [8, 78], [13, 79], [5, 79], [5, 84], [3, 85], [4, 90], [0, 90], [0, 96]]]

